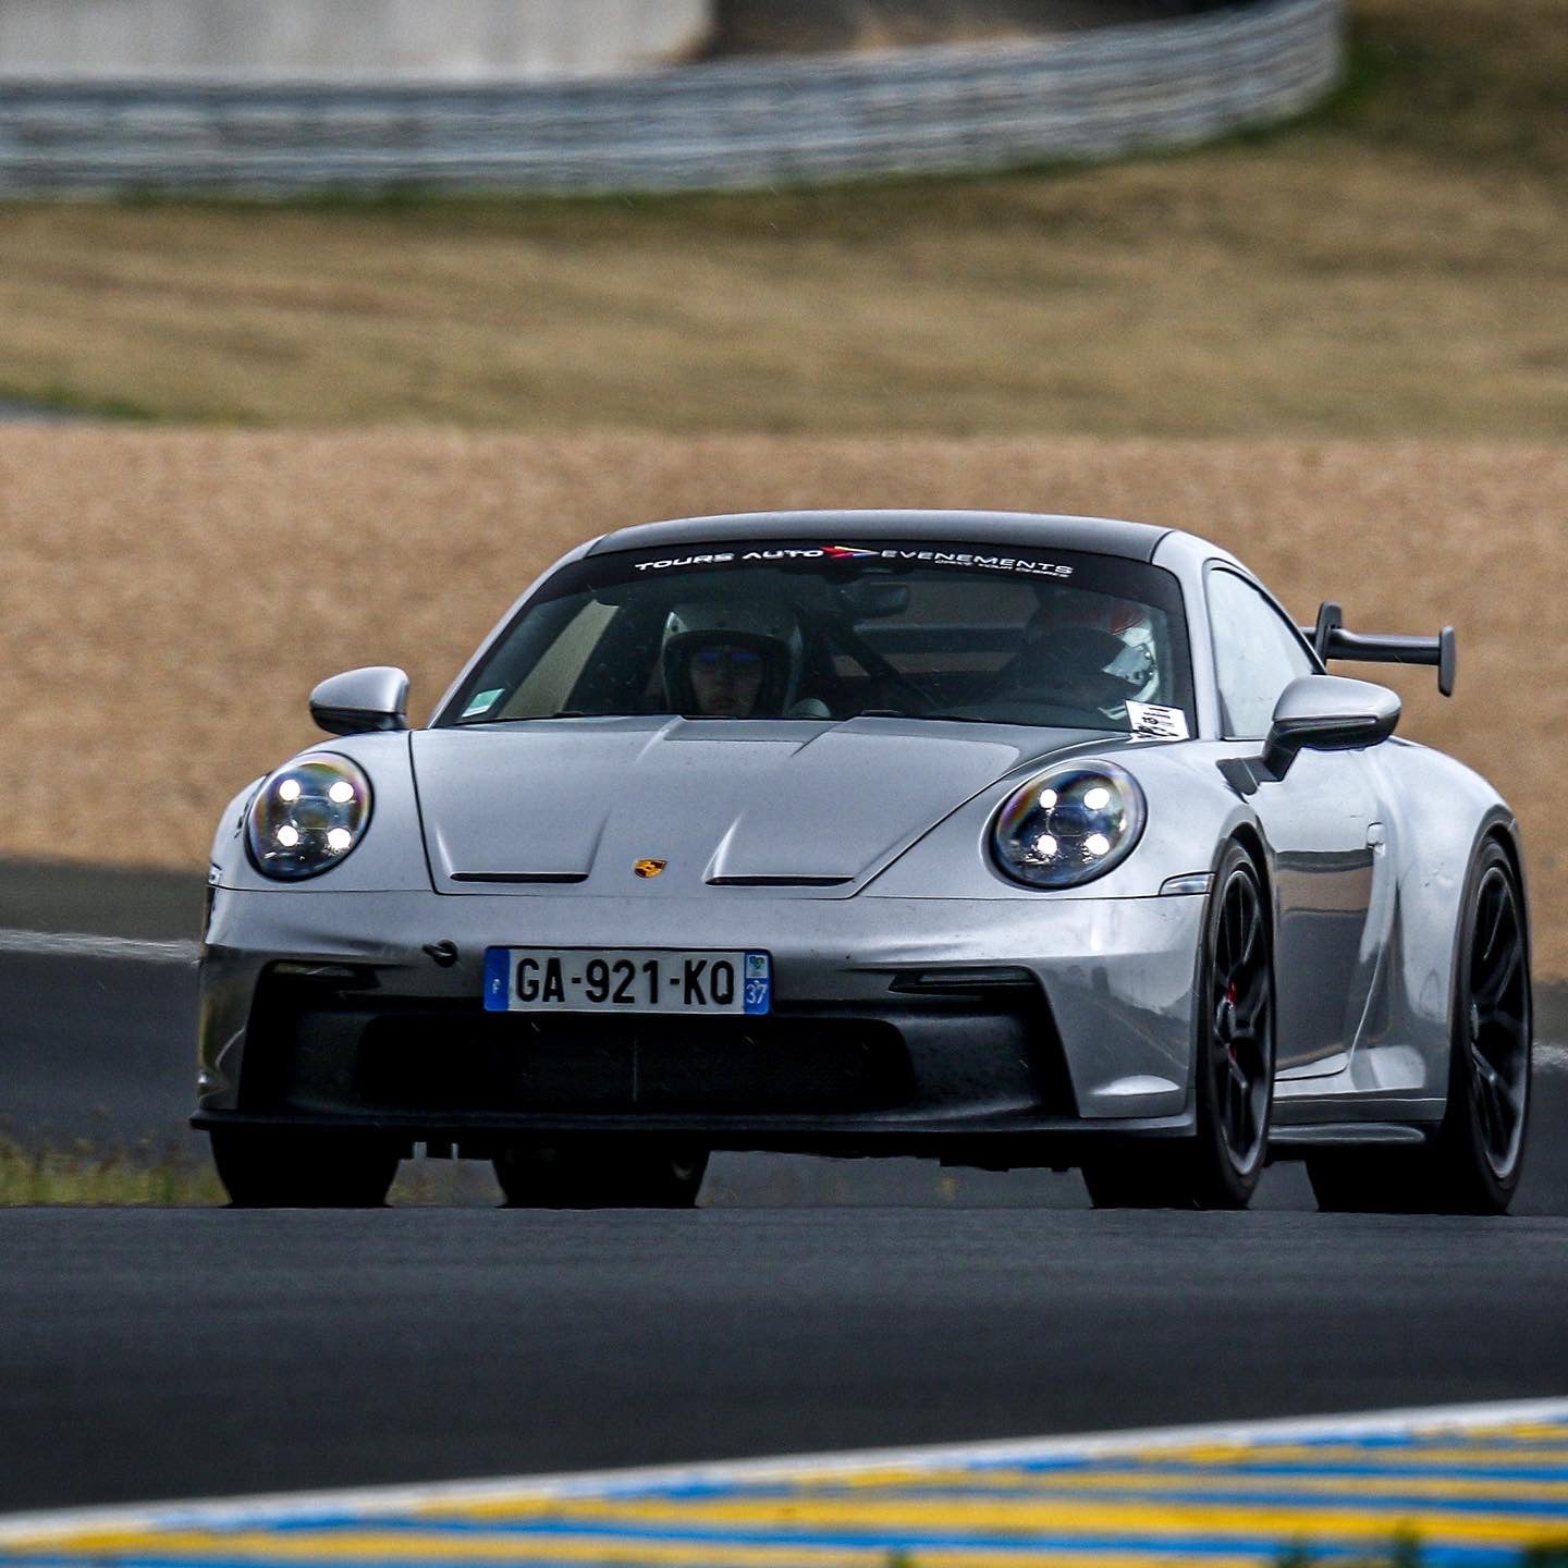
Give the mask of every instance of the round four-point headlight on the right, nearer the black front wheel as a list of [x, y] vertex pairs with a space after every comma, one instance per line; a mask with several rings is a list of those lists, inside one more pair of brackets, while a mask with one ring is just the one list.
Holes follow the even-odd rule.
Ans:
[[1138, 842], [1138, 781], [1112, 762], [1068, 762], [1014, 790], [991, 825], [991, 855], [1030, 887], [1076, 887]]

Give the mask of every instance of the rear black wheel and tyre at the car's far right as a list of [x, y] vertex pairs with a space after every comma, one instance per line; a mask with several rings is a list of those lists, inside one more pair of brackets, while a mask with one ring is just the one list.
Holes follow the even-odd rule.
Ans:
[[1306, 1162], [1320, 1209], [1502, 1214], [1524, 1162], [1530, 1105], [1530, 939], [1513, 862], [1496, 839], [1466, 878], [1449, 1018], [1449, 1099], [1424, 1148]]

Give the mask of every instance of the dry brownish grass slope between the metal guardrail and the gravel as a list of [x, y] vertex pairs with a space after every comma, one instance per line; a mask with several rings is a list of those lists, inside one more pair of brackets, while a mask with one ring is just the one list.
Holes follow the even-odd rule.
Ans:
[[0, 394], [246, 425], [1568, 434], [1562, 0], [1356, 0], [1184, 157], [668, 201], [0, 205]]

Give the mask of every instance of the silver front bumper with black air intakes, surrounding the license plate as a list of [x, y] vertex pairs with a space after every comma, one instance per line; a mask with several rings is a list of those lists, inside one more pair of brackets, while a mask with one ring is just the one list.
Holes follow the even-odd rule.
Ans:
[[[218, 889], [194, 1120], [464, 1152], [615, 1132], [978, 1163], [1083, 1134], [1181, 1134], [1201, 919], [1201, 897]], [[456, 958], [437, 961], [439, 944]], [[483, 958], [502, 944], [767, 949], [775, 1011], [492, 1014]]]

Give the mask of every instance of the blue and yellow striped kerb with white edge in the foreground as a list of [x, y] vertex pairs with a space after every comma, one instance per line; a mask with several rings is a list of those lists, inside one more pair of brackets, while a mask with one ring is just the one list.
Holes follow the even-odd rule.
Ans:
[[[1568, 1400], [0, 1519], [0, 1563], [1568, 1562]], [[1540, 1559], [1537, 1559], [1540, 1560]]]

